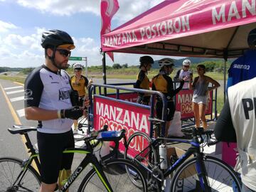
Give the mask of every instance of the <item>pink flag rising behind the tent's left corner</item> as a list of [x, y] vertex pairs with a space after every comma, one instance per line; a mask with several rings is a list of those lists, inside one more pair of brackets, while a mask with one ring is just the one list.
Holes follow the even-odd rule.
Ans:
[[[118, 9], [119, 4], [117, 0], [101, 0], [100, 14], [102, 18], [102, 28], [100, 31], [100, 36], [110, 32], [112, 17], [115, 13], [117, 13]], [[109, 52], [107, 54], [114, 61], [114, 54], [112, 52]]]

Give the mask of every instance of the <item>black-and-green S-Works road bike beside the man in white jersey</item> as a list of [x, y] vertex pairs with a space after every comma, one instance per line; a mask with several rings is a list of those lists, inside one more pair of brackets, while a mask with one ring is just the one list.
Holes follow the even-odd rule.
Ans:
[[[33, 147], [28, 132], [36, 131], [35, 127], [14, 126], [8, 129], [11, 134], [21, 134], [26, 139], [26, 147], [30, 156], [28, 159], [21, 160], [13, 157], [0, 158], [0, 191], [31, 191], [36, 192], [41, 185], [40, 161], [38, 152]], [[99, 142], [113, 142], [114, 148], [110, 154], [100, 157], [98, 160], [93, 151]], [[77, 191], [147, 191], [146, 179], [139, 167], [127, 159], [118, 159], [117, 151], [119, 141], [125, 139], [125, 131], [106, 131], [102, 129], [92, 132], [87, 137], [80, 138], [85, 142], [82, 148], [65, 149], [64, 154], [78, 153], [84, 154], [78, 167], [70, 177], [63, 181], [63, 187], [59, 191], [67, 191], [72, 183], [80, 176], [86, 166], [91, 170], [82, 179]], [[126, 141], [126, 140], [125, 140]], [[128, 171], [128, 173], [127, 173]], [[132, 182], [139, 183], [139, 187]]]

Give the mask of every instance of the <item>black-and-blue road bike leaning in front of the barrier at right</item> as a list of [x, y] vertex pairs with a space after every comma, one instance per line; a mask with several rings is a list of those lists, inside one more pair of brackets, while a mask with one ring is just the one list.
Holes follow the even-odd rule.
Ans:
[[[161, 124], [159, 119], [151, 119]], [[241, 191], [241, 181], [233, 169], [218, 158], [203, 153], [203, 147], [215, 144], [211, 140], [213, 130], [203, 128], [188, 129], [193, 139], [150, 138], [142, 132], [135, 132], [127, 141], [124, 153], [125, 159], [132, 161], [144, 170], [149, 189], [163, 191], [164, 181], [171, 179], [171, 192], [175, 191]], [[134, 153], [137, 141], [141, 142], [140, 149]], [[161, 144], [185, 143], [191, 146], [181, 156], [173, 154], [169, 159], [169, 167], [161, 169], [164, 159], [159, 157]], [[136, 183], [136, 182], [134, 182]], [[137, 183], [137, 186], [140, 184]], [[166, 190], [166, 189], [165, 189]]]

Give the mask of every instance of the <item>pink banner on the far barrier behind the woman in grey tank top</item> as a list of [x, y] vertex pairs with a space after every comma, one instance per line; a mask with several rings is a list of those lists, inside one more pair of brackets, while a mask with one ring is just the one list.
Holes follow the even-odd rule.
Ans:
[[[181, 112], [181, 119], [194, 117], [192, 109], [193, 90], [180, 90], [176, 95], [176, 111]], [[208, 94], [208, 105], [206, 114], [212, 114], [213, 91]]]

